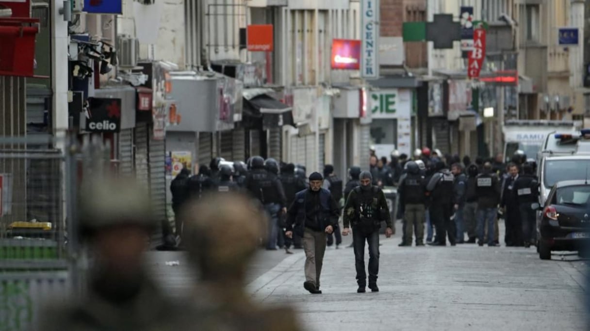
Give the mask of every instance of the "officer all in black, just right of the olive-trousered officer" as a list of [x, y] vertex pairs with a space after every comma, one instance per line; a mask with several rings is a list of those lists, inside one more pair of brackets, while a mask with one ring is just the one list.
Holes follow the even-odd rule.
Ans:
[[434, 166], [435, 173], [432, 174], [426, 190], [430, 192], [430, 218], [434, 224], [437, 234], [437, 241], [431, 243], [433, 246], [447, 246], [446, 237], [451, 246], [455, 242], [454, 222], [451, 221], [453, 208], [453, 187], [455, 177], [449, 171], [442, 161], [438, 161]]

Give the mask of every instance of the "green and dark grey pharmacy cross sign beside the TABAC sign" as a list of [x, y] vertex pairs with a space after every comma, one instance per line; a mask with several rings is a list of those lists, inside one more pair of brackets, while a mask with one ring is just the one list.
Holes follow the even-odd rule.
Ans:
[[404, 22], [404, 42], [432, 41], [434, 48], [453, 48], [453, 41], [461, 40], [461, 24], [451, 14], [435, 14], [432, 22]]

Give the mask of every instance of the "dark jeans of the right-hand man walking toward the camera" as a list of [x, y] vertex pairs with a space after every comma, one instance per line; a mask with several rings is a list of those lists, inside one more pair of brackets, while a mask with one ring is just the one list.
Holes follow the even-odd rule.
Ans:
[[379, 230], [363, 233], [353, 227], [352, 239], [355, 249], [356, 282], [359, 286], [366, 286], [365, 272], [365, 240], [369, 244], [369, 285], [377, 283], [379, 273]]

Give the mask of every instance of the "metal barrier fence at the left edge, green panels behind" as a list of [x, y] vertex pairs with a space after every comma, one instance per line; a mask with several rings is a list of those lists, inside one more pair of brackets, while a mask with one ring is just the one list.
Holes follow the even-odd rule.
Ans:
[[61, 144], [0, 137], [0, 331], [30, 330], [47, 300], [83, 291], [77, 188], [109, 170], [109, 146], [75, 134]]

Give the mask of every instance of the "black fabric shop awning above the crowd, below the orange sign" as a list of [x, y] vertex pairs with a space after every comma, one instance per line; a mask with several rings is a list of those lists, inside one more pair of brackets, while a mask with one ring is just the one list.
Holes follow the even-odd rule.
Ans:
[[268, 94], [256, 97], [244, 97], [244, 117], [250, 127], [267, 129], [271, 127], [291, 125], [297, 127], [293, 121], [293, 107], [284, 104]]

